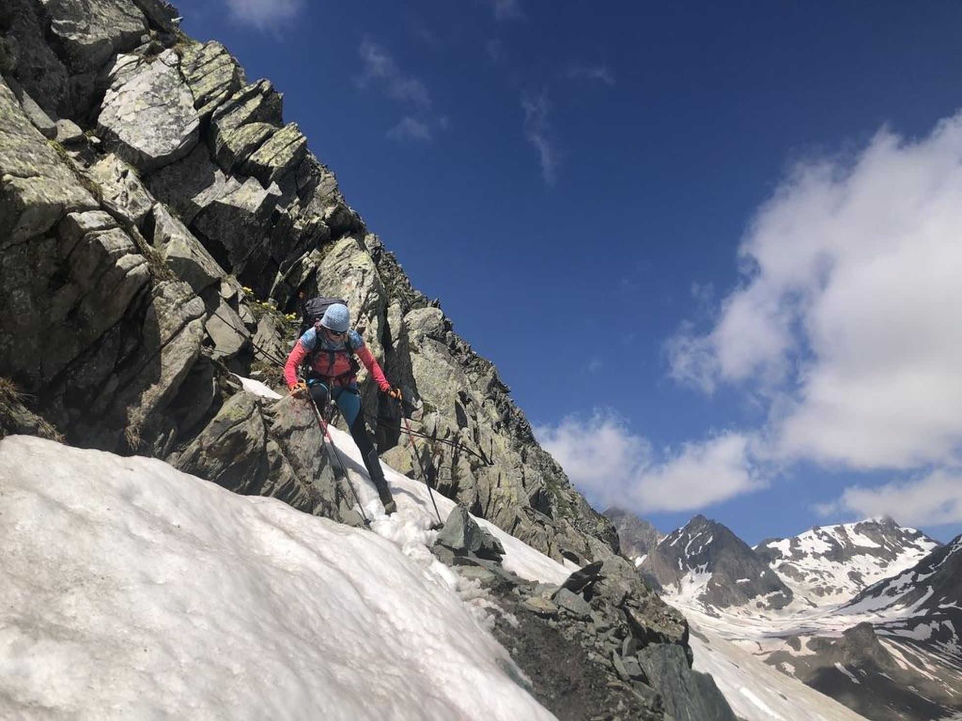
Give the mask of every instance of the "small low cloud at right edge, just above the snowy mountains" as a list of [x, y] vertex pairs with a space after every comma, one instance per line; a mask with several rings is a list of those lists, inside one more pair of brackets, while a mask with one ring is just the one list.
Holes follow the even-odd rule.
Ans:
[[916, 481], [874, 488], [852, 486], [819, 510], [848, 511], [856, 517], [888, 515], [909, 526], [962, 523], [962, 470], [938, 469]]

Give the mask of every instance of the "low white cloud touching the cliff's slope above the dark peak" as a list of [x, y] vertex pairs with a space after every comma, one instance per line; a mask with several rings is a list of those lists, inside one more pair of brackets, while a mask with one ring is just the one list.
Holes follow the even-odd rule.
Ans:
[[610, 411], [588, 420], [571, 415], [558, 426], [536, 428], [535, 435], [599, 507], [618, 504], [642, 514], [701, 510], [764, 486], [750, 460], [751, 439], [738, 433], [686, 443], [662, 460]]

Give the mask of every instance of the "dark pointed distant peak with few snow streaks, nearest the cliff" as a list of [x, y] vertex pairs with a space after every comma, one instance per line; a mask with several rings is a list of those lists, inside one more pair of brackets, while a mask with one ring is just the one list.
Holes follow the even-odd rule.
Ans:
[[720, 609], [747, 603], [780, 609], [792, 601], [791, 589], [745, 541], [702, 515], [665, 536], [641, 569], [662, 587]]

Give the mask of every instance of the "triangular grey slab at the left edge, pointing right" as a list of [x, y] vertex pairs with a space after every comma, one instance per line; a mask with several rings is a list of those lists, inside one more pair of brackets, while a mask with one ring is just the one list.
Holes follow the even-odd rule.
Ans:
[[97, 208], [2, 79], [0, 137], [0, 251], [46, 232], [67, 212]]

